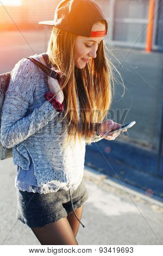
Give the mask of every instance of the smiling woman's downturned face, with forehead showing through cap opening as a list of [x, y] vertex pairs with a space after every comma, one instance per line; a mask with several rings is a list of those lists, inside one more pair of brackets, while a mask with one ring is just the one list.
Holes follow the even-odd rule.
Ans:
[[[92, 27], [92, 31], [104, 31], [105, 25], [102, 23], [95, 23]], [[86, 36], [77, 36], [77, 39], [74, 44], [73, 59], [74, 65], [83, 69], [86, 66], [87, 62], [84, 62], [83, 59], [90, 60], [96, 58], [96, 52], [98, 50], [98, 44], [104, 39], [102, 37], [86, 37]], [[93, 40], [94, 42], [90, 41]]]

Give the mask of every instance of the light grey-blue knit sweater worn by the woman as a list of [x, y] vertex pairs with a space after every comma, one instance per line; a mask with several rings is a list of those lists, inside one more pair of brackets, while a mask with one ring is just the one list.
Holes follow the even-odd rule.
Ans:
[[[33, 57], [41, 62], [37, 54]], [[44, 94], [49, 92], [47, 75], [31, 60], [21, 59], [11, 72], [11, 80], [1, 114], [1, 143], [12, 148], [14, 165], [29, 170], [29, 157], [34, 163], [38, 186], [53, 181], [55, 191], [76, 190], [83, 178], [85, 140], [82, 145], [73, 139], [64, 148], [66, 122], [61, 134], [64, 111], [58, 112]], [[79, 101], [78, 102], [78, 111]], [[61, 143], [59, 143], [61, 138]], [[92, 136], [92, 142], [103, 139]]]

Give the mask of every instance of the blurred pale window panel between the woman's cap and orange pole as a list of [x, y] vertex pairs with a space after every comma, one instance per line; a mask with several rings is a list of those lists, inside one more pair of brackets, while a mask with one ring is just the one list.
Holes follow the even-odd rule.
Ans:
[[117, 0], [113, 40], [145, 43], [148, 22], [148, 0]]

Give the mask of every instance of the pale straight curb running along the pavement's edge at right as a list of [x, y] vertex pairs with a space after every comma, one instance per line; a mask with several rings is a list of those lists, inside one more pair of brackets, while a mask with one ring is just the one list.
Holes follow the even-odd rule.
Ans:
[[108, 175], [102, 174], [101, 172], [98, 172], [98, 170], [95, 170], [93, 168], [90, 168], [88, 166], [84, 166], [84, 176], [85, 178], [92, 178], [96, 181], [102, 181], [105, 184], [108, 184], [112, 187], [116, 187], [124, 192], [128, 192], [130, 194], [133, 194], [134, 196], [140, 197], [144, 200], [147, 200], [150, 203], [153, 203], [155, 205], [158, 205], [163, 208], [163, 199], [152, 195], [152, 198], [145, 195], [145, 191], [141, 190], [140, 188], [137, 188], [135, 186], [132, 186], [130, 184], [127, 184], [123, 181], [118, 181], [115, 178], [112, 178]]

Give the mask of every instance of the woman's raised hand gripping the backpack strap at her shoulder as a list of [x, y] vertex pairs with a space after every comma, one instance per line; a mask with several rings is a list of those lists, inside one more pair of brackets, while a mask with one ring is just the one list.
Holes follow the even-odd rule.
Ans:
[[[57, 72], [59, 75], [61, 72], [55, 68], [52, 68], [55, 72]], [[48, 76], [48, 86], [52, 93], [56, 94], [60, 90], [60, 85], [58, 83], [57, 79], [52, 78], [51, 76]], [[64, 101], [64, 93], [62, 90], [60, 90], [57, 95], [55, 95], [55, 99], [57, 99], [60, 103]]]

